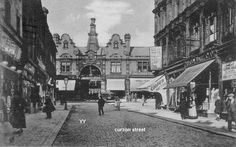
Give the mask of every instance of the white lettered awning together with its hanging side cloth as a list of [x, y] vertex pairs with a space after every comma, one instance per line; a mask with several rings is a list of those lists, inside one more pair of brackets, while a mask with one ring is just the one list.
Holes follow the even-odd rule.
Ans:
[[149, 92], [158, 92], [162, 96], [163, 105], [167, 104], [167, 96], [166, 96], [166, 87], [167, 82], [164, 75], [157, 76], [156, 78], [151, 79], [150, 81], [144, 83], [142, 86], [138, 87], [138, 89], [142, 91]]

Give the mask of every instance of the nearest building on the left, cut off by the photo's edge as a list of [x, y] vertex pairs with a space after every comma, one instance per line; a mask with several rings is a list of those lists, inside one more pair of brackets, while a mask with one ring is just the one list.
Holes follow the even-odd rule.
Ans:
[[[22, 1], [0, 1], [0, 100], [10, 106], [11, 96], [20, 91], [23, 50]], [[2, 108], [0, 108], [2, 109]], [[6, 117], [5, 117], [6, 118]]]

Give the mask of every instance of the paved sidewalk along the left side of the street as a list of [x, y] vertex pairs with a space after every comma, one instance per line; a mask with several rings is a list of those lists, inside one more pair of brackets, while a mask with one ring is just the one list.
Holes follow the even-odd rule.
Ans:
[[[21, 135], [12, 134], [14, 131], [9, 123], [0, 125], [0, 131], [8, 130], [5, 146], [51, 146], [59, 130], [65, 122], [71, 105], [68, 110], [64, 110], [64, 105], [57, 103], [56, 110], [52, 113], [52, 119], [46, 119], [46, 114], [37, 112], [26, 114], [26, 127]], [[5, 128], [2, 128], [5, 127]], [[8, 128], [8, 129], [6, 129]], [[13, 137], [10, 143], [9, 138]]]

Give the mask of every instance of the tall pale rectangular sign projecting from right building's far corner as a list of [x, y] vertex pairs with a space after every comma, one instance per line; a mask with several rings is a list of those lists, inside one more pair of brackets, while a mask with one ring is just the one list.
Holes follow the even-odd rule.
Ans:
[[162, 68], [162, 47], [150, 47], [150, 68], [151, 70], [158, 70]]

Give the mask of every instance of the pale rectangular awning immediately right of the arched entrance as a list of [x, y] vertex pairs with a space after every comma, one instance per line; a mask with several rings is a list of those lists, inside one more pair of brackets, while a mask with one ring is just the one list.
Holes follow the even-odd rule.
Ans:
[[107, 79], [107, 90], [125, 90], [125, 79]]

